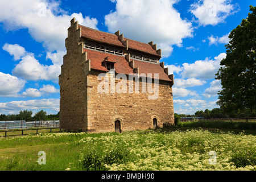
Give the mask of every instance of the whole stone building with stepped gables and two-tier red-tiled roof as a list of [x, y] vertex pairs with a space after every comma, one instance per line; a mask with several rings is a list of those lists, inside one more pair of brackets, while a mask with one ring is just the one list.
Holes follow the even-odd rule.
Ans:
[[160, 63], [156, 44], [93, 30], [73, 18], [65, 47], [61, 130], [121, 132], [174, 124], [174, 77]]

